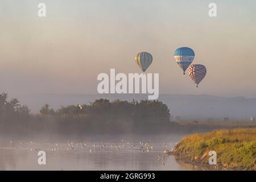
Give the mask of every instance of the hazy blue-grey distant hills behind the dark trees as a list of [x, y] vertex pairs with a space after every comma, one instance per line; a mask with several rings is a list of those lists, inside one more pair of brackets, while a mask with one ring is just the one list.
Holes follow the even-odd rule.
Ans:
[[[44, 104], [53, 109], [61, 105], [76, 105], [92, 102], [98, 98], [112, 100], [146, 100], [147, 95], [141, 94], [38, 94], [32, 96], [19, 96], [21, 104], [27, 105], [33, 113], [37, 113]], [[209, 95], [174, 95], [160, 94], [159, 101], [164, 102], [171, 114], [180, 116], [181, 120], [222, 120], [229, 117], [231, 120], [249, 121], [256, 115], [256, 98], [245, 97], [217, 97]]]

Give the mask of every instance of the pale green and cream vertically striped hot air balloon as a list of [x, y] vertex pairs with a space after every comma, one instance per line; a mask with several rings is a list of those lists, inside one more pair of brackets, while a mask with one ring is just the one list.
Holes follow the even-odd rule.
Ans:
[[135, 62], [139, 65], [143, 72], [150, 66], [153, 61], [153, 57], [148, 52], [140, 52], [135, 56]]

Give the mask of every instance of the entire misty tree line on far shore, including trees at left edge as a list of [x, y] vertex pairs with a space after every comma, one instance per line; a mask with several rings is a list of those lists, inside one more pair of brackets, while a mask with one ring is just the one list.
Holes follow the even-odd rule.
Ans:
[[160, 101], [98, 99], [57, 110], [46, 104], [38, 114], [31, 114], [17, 98], [8, 100], [8, 94], [0, 94], [0, 134], [154, 132], [156, 127], [166, 128], [168, 123], [170, 110]]

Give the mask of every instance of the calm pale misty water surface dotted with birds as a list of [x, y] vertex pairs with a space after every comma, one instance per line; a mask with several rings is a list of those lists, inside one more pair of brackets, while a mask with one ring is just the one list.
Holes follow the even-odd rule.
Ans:
[[[194, 170], [164, 155], [168, 142], [6, 142], [0, 147], [0, 170]], [[38, 165], [38, 152], [46, 151], [47, 164]]]

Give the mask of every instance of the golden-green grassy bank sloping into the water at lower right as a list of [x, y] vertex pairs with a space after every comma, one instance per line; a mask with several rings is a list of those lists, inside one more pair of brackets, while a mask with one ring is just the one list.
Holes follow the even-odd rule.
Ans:
[[[217, 166], [209, 165], [217, 152]], [[172, 154], [185, 163], [228, 170], [256, 170], [256, 129], [216, 130], [183, 138]]]

